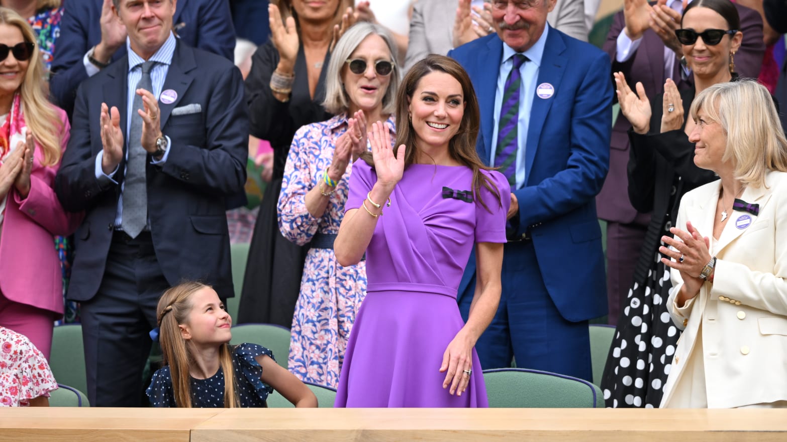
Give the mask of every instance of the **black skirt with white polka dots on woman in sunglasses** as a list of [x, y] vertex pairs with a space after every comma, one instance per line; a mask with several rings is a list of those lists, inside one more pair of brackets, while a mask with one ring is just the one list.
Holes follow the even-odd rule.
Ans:
[[630, 288], [618, 320], [601, 380], [607, 407], [657, 408], [661, 403], [680, 331], [667, 312], [672, 283], [670, 268], [660, 258], [655, 250], [648, 278]]

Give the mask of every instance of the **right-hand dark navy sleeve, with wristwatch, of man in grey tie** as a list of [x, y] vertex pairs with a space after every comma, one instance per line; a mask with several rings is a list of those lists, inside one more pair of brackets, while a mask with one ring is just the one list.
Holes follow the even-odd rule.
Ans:
[[231, 195], [246, 184], [249, 119], [243, 101], [243, 79], [231, 66], [212, 85], [205, 121], [205, 148], [172, 137], [172, 150], [161, 167], [164, 174], [205, 190]]

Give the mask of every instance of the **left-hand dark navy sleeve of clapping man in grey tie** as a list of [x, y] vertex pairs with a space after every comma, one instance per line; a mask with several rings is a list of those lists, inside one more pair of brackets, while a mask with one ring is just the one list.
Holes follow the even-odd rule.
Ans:
[[63, 153], [60, 170], [57, 170], [54, 181], [57, 199], [69, 212], [89, 209], [95, 199], [117, 186], [113, 181], [100, 183], [95, 176], [96, 154], [91, 150], [87, 93], [83, 86], [79, 86], [76, 91], [71, 139], [68, 140], [68, 148]]

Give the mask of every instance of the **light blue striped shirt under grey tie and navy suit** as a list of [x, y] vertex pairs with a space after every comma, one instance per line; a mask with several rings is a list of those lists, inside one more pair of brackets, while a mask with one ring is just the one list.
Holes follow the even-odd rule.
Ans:
[[[175, 45], [176, 39], [175, 35], [172, 32], [169, 33], [169, 37], [164, 42], [164, 45], [159, 48], [156, 53], [153, 54], [153, 57], [150, 57], [150, 61], [155, 61], [156, 64], [153, 64], [153, 68], [150, 70], [150, 80], [153, 82], [153, 96], [158, 97], [161, 96], [161, 89], [164, 88], [164, 80], [167, 79], [167, 72], [169, 71], [169, 65], [172, 64], [172, 54], [175, 53]], [[131, 49], [131, 41], [126, 38], [126, 49], [128, 51], [128, 77], [127, 77], [127, 86], [128, 86], [128, 95], [126, 97], [127, 100], [127, 108], [126, 108], [126, 159], [128, 159], [128, 147], [131, 146], [131, 140], [128, 138], [130, 137], [131, 132], [131, 119], [133, 118], [134, 113], [134, 97], [136, 95], [137, 84], [139, 80], [142, 79], [142, 64], [145, 63], [145, 59], [139, 57], [132, 49]], [[166, 136], [165, 136], [166, 137]], [[139, 140], [133, 141], [134, 143], [139, 144]], [[167, 137], [167, 145], [168, 147], [172, 147], [172, 141]], [[164, 153], [164, 156], [161, 160], [151, 160], [150, 163], [162, 165], [167, 161], [167, 157], [169, 155], [170, 149], [167, 149], [167, 152]], [[117, 184], [117, 181], [113, 180], [113, 177], [117, 173], [117, 169], [113, 170], [113, 172], [109, 175], [104, 174], [101, 162], [103, 158], [103, 152], [99, 152], [98, 156], [96, 157], [96, 169], [95, 174], [96, 178], [99, 181], [113, 182]], [[125, 184], [125, 183], [124, 183]], [[120, 228], [120, 221], [123, 219], [123, 186], [124, 184], [120, 184], [120, 199], [117, 200], [117, 212], [115, 216], [115, 228]], [[150, 220], [148, 220], [148, 225], [146, 226], [146, 230], [150, 230]]]

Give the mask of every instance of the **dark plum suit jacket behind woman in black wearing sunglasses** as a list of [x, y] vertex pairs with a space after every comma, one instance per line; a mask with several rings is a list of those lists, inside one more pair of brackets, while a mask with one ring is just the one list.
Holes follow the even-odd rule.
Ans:
[[[735, 5], [741, 16], [741, 32], [743, 42], [741, 49], [735, 54], [735, 66], [741, 77], [756, 78], [763, 64], [765, 43], [763, 43], [763, 19], [754, 9]], [[612, 26], [604, 42], [604, 51], [612, 60], [612, 72], [622, 71], [626, 81], [634, 89], [637, 82], [645, 86], [648, 98], [664, 92], [664, 43], [656, 32], [645, 31], [642, 42], [629, 60], [624, 63], [615, 61], [617, 54], [618, 35], [626, 27], [623, 11], [615, 14]], [[678, 89], [691, 86], [687, 81], [681, 80], [678, 74], [680, 64], [675, 60], [674, 79], [678, 79]], [[626, 117], [619, 115], [615, 126], [612, 126], [612, 137], [609, 152], [609, 173], [604, 181], [604, 187], [596, 198], [598, 217], [607, 221], [628, 224], [637, 217], [637, 210], [631, 206], [628, 193], [628, 178], [626, 177], [626, 164], [629, 162], [629, 137], [628, 130], [631, 125]]]

